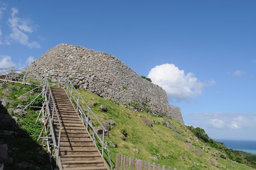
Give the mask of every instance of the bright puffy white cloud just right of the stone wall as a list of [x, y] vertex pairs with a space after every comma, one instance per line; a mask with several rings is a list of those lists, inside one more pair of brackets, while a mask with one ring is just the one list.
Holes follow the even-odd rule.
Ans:
[[185, 74], [184, 70], [168, 63], [152, 68], [148, 77], [166, 91], [170, 100], [178, 101], [192, 101], [190, 98], [200, 96], [204, 86], [215, 83], [214, 80], [200, 82], [192, 72]]

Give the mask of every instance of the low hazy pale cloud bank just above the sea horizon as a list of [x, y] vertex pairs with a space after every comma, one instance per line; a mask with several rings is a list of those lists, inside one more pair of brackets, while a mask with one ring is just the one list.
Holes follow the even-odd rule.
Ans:
[[211, 138], [256, 140], [256, 114], [206, 112], [183, 115], [185, 124], [204, 128]]

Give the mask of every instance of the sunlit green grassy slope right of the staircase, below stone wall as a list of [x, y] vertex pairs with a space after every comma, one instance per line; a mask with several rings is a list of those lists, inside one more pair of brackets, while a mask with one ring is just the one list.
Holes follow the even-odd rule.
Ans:
[[[103, 113], [97, 106], [92, 106], [94, 113], [104, 122], [105, 118], [112, 119], [116, 122], [113, 129], [110, 130], [110, 137], [105, 138], [107, 141], [112, 141], [117, 144], [117, 148], [109, 146], [111, 159], [115, 160], [116, 153], [131, 156], [133, 158], [138, 158], [141, 160], [146, 160], [149, 162], [154, 162], [151, 157], [156, 156], [158, 162], [156, 164], [171, 166], [171, 168], [183, 169], [183, 170], [201, 170], [201, 169], [211, 169], [211, 170], [250, 170], [247, 166], [232, 162], [231, 160], [224, 160], [218, 158], [220, 168], [213, 166], [209, 163], [209, 160], [216, 159], [214, 156], [208, 153], [205, 149], [207, 148], [204, 143], [197, 140], [197, 138], [189, 131], [187, 128], [180, 123], [170, 119], [170, 122], [180, 130], [186, 138], [189, 138], [194, 147], [194, 152], [192, 152], [186, 142], [176, 136], [173, 130], [168, 128], [166, 125], [153, 124], [150, 128], [140, 118], [145, 117], [153, 121], [164, 122], [163, 118], [152, 116], [145, 112], [133, 112], [132, 110], [126, 108], [122, 104], [117, 104], [116, 102], [100, 98], [94, 94], [80, 91], [84, 100], [86, 102], [99, 102], [100, 104], [106, 105], [108, 112]], [[128, 114], [132, 117], [128, 118]], [[126, 140], [122, 140], [121, 129], [125, 128], [128, 132]], [[140, 153], [135, 153], [134, 148], [138, 148]], [[203, 151], [202, 156], [196, 154], [195, 149], [201, 149]], [[217, 152], [215, 150], [215, 152]], [[195, 162], [192, 166], [192, 162]]]

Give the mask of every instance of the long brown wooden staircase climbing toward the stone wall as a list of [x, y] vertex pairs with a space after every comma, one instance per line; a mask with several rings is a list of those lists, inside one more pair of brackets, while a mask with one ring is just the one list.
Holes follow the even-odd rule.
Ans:
[[[60, 170], [109, 170], [65, 90], [51, 88], [51, 91], [62, 123]], [[50, 102], [50, 108], [52, 107], [53, 103]], [[56, 115], [53, 124], [55, 136], [58, 137], [60, 124]]]

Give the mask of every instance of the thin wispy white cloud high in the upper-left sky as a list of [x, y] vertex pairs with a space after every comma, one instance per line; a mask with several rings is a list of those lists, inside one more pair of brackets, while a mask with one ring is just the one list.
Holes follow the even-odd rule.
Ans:
[[[19, 42], [24, 46], [28, 46], [29, 48], [40, 48], [40, 44], [38, 42], [29, 41], [28, 33], [32, 33], [33, 29], [29, 25], [28, 20], [18, 18], [16, 15], [18, 14], [17, 8], [12, 8], [11, 18], [8, 19], [10, 27], [12, 28], [12, 33], [8, 36], [8, 39], [13, 40], [15, 42]], [[7, 42], [7, 44], [10, 42]]]

